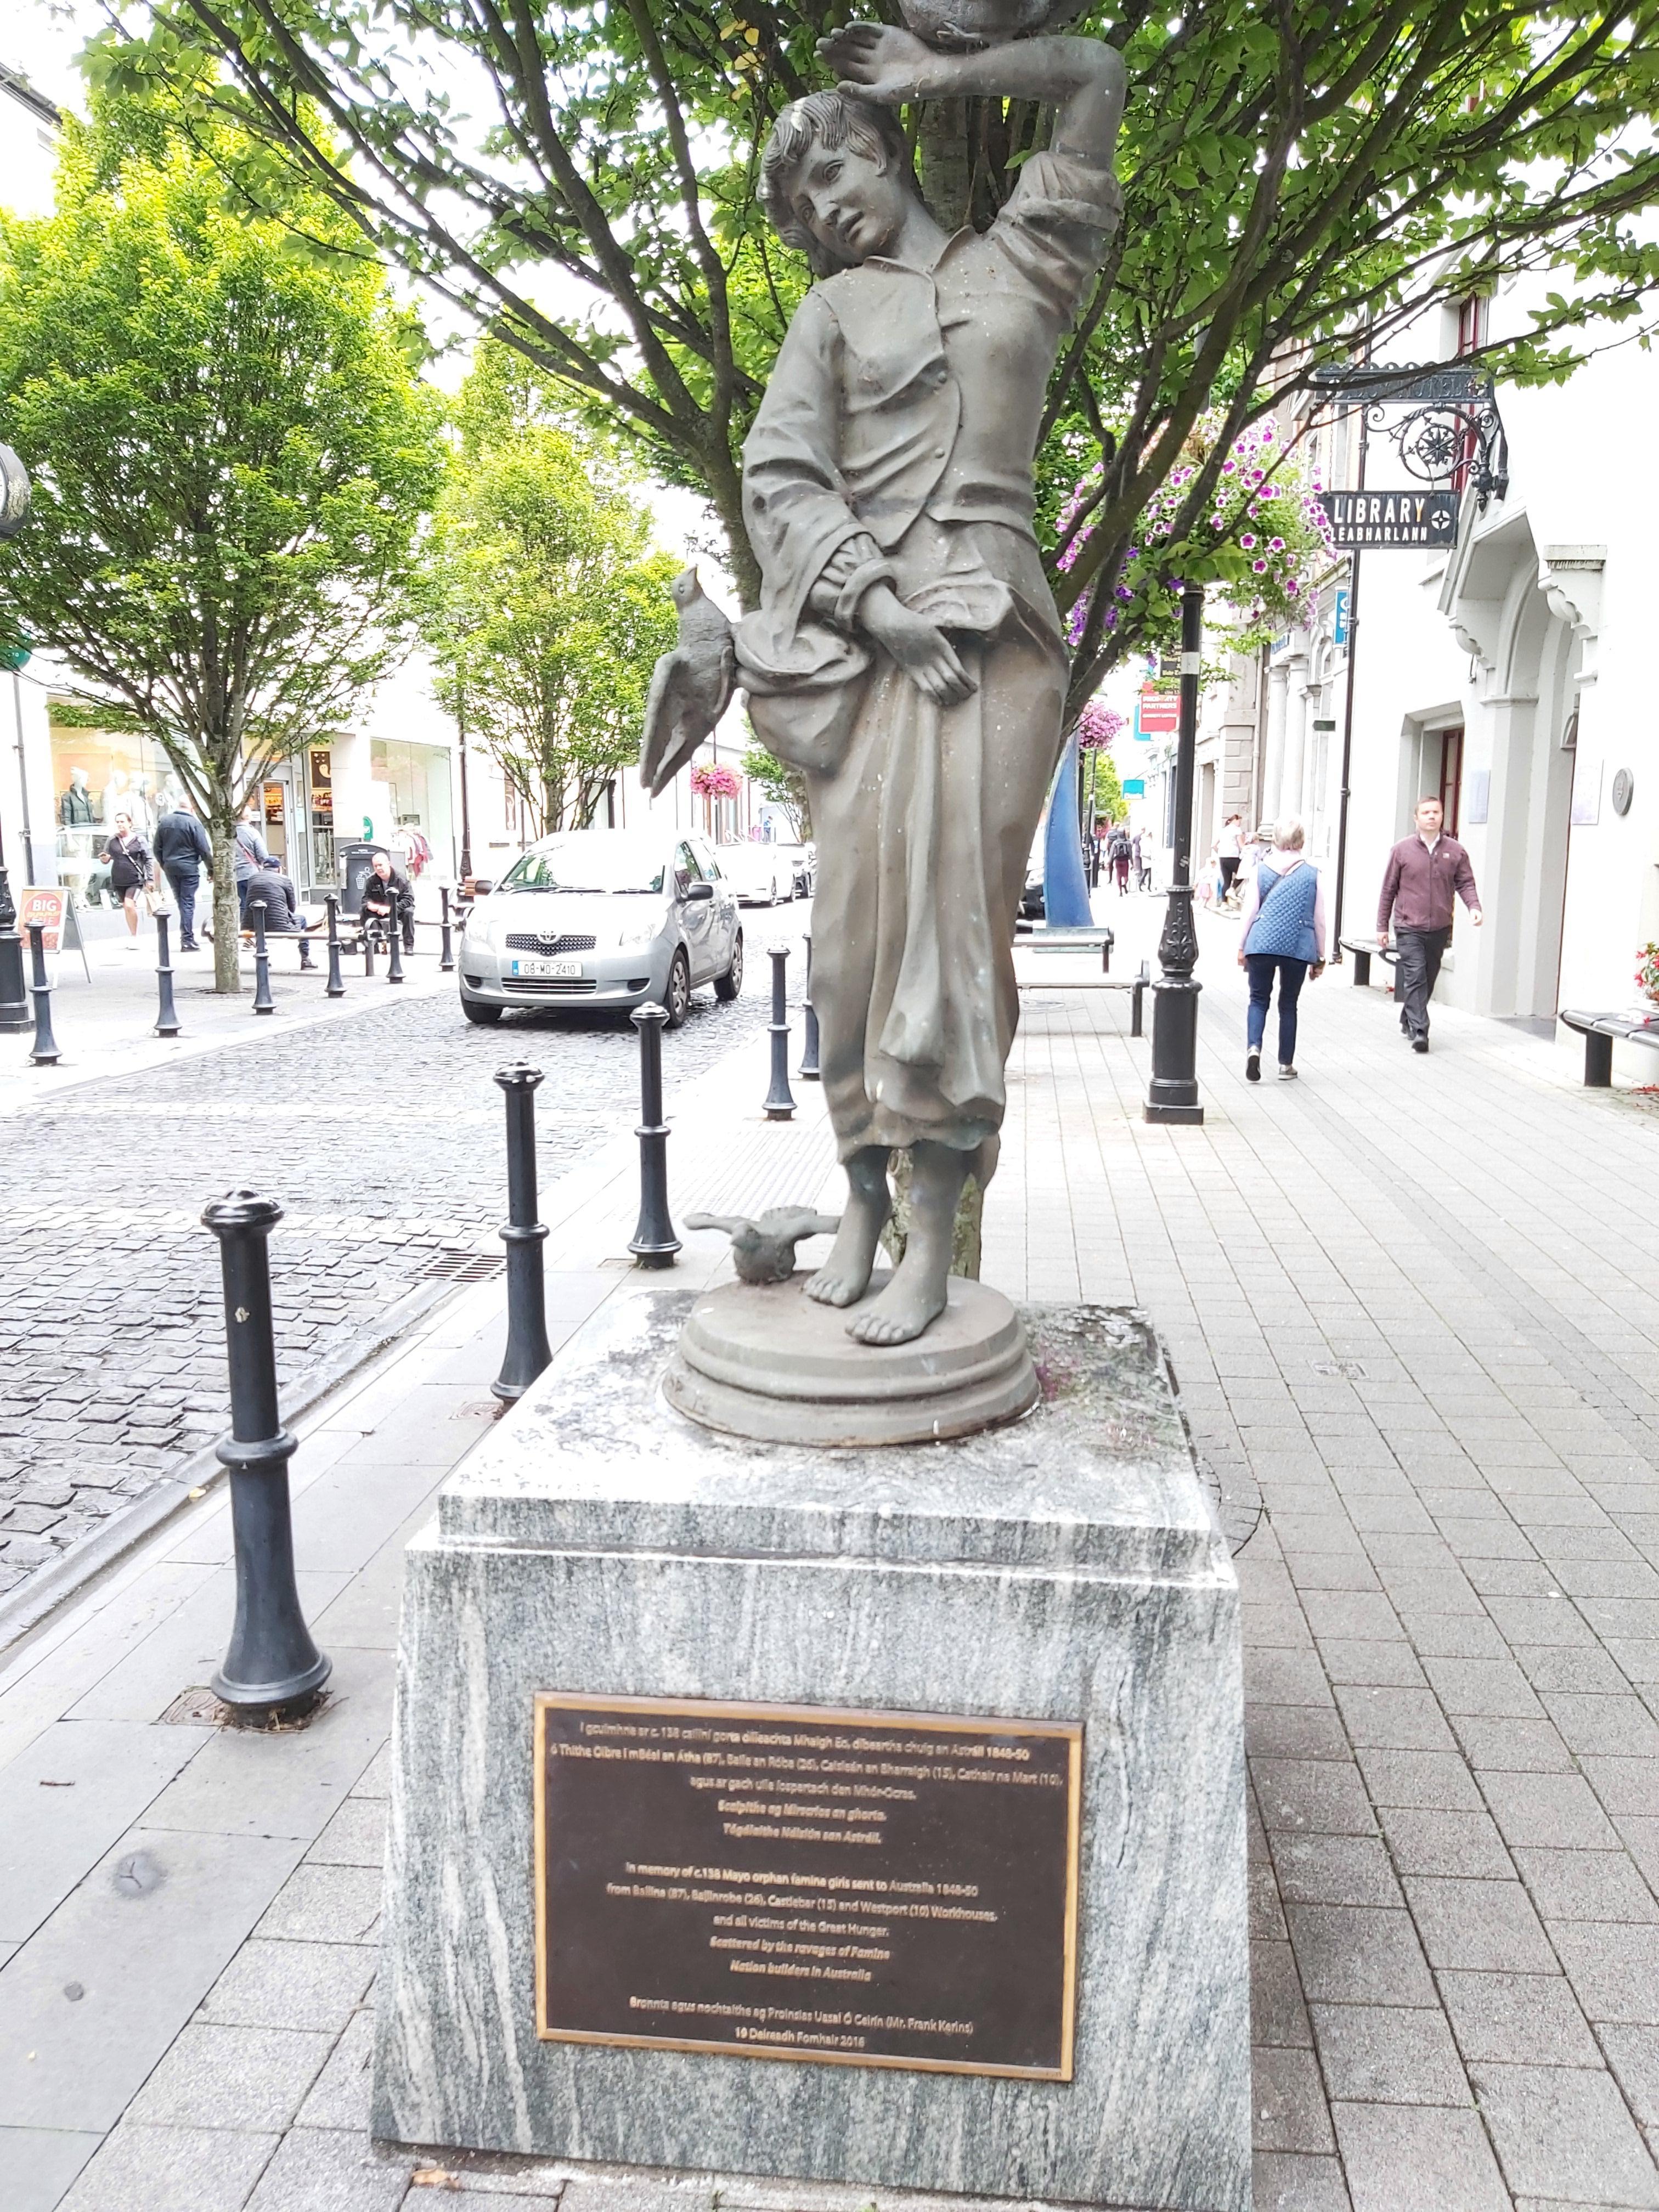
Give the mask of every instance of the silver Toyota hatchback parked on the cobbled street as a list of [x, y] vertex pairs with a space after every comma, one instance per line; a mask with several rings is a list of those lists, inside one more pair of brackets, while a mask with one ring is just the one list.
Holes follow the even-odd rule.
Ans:
[[743, 989], [737, 898], [699, 836], [564, 830], [480, 898], [460, 940], [460, 1011], [641, 1006], [679, 1029], [697, 984]]

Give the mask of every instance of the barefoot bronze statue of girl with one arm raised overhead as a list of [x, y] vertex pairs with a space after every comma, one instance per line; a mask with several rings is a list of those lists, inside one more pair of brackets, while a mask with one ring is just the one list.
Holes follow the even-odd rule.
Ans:
[[[852, 1188], [807, 1294], [865, 1301], [909, 1148], [905, 1259], [847, 1323], [894, 1345], [942, 1312], [962, 1181], [995, 1166], [1013, 918], [1066, 695], [1031, 462], [1121, 215], [1124, 66], [1091, 38], [940, 53], [880, 24], [818, 51], [843, 82], [785, 108], [763, 159], [818, 283], [743, 449], [763, 595], [737, 681], [805, 772], [818, 838], [812, 998]], [[947, 237], [891, 108], [967, 95], [1053, 104], [1053, 133], [989, 232]]]

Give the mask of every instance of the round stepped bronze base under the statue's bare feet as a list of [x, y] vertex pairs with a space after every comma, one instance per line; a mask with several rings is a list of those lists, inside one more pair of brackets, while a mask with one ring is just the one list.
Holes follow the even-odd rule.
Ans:
[[[938, 1442], [1037, 1402], [1024, 1323], [1000, 1290], [951, 1276], [945, 1312], [914, 1343], [860, 1345], [847, 1336], [858, 1307], [818, 1305], [805, 1283], [801, 1270], [706, 1292], [664, 1376], [668, 1402], [768, 1444]], [[865, 1298], [885, 1283], [876, 1274]]]

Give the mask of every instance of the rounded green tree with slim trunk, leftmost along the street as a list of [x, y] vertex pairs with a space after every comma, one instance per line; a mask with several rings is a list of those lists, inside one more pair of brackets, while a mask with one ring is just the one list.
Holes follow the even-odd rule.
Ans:
[[[0, 217], [0, 438], [35, 482], [0, 628], [166, 752], [212, 834], [234, 991], [237, 818], [398, 653], [440, 409], [372, 263], [299, 259], [288, 226], [228, 212], [204, 153], [135, 150], [126, 124], [71, 122], [55, 212]], [[343, 237], [323, 199], [288, 212]]]

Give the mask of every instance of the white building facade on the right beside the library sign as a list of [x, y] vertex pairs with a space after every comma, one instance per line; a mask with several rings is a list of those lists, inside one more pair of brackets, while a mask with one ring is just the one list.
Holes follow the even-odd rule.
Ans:
[[[1528, 330], [1526, 303], [1513, 288], [1462, 314], [1436, 310], [1378, 365], [1451, 363], [1460, 345]], [[1555, 1029], [1562, 1006], [1630, 1011], [1639, 951], [1659, 938], [1659, 730], [1646, 701], [1659, 367], [1617, 332], [1604, 341], [1566, 385], [1498, 387], [1509, 482], [1482, 502], [1462, 449], [1440, 478], [1458, 493], [1453, 546], [1367, 549], [1358, 622], [1352, 562], [1338, 555], [1312, 622], [1234, 659], [1201, 708], [1194, 869], [1223, 814], [1298, 814], [1332, 916], [1340, 876], [1343, 936], [1371, 938], [1387, 852], [1411, 832], [1416, 801], [1436, 796], [1469, 847], [1484, 909], [1482, 929], [1460, 914], [1438, 995], [1537, 1029]], [[1389, 436], [1407, 411], [1374, 418], [1371, 491], [1425, 489]], [[1285, 434], [1301, 431], [1327, 487], [1354, 487], [1358, 425], [1358, 409], [1325, 405], [1312, 429], [1287, 414]], [[1559, 1042], [1579, 1048], [1566, 1031]], [[1615, 1068], [1637, 1082], [1655, 1073], [1628, 1046]]]

